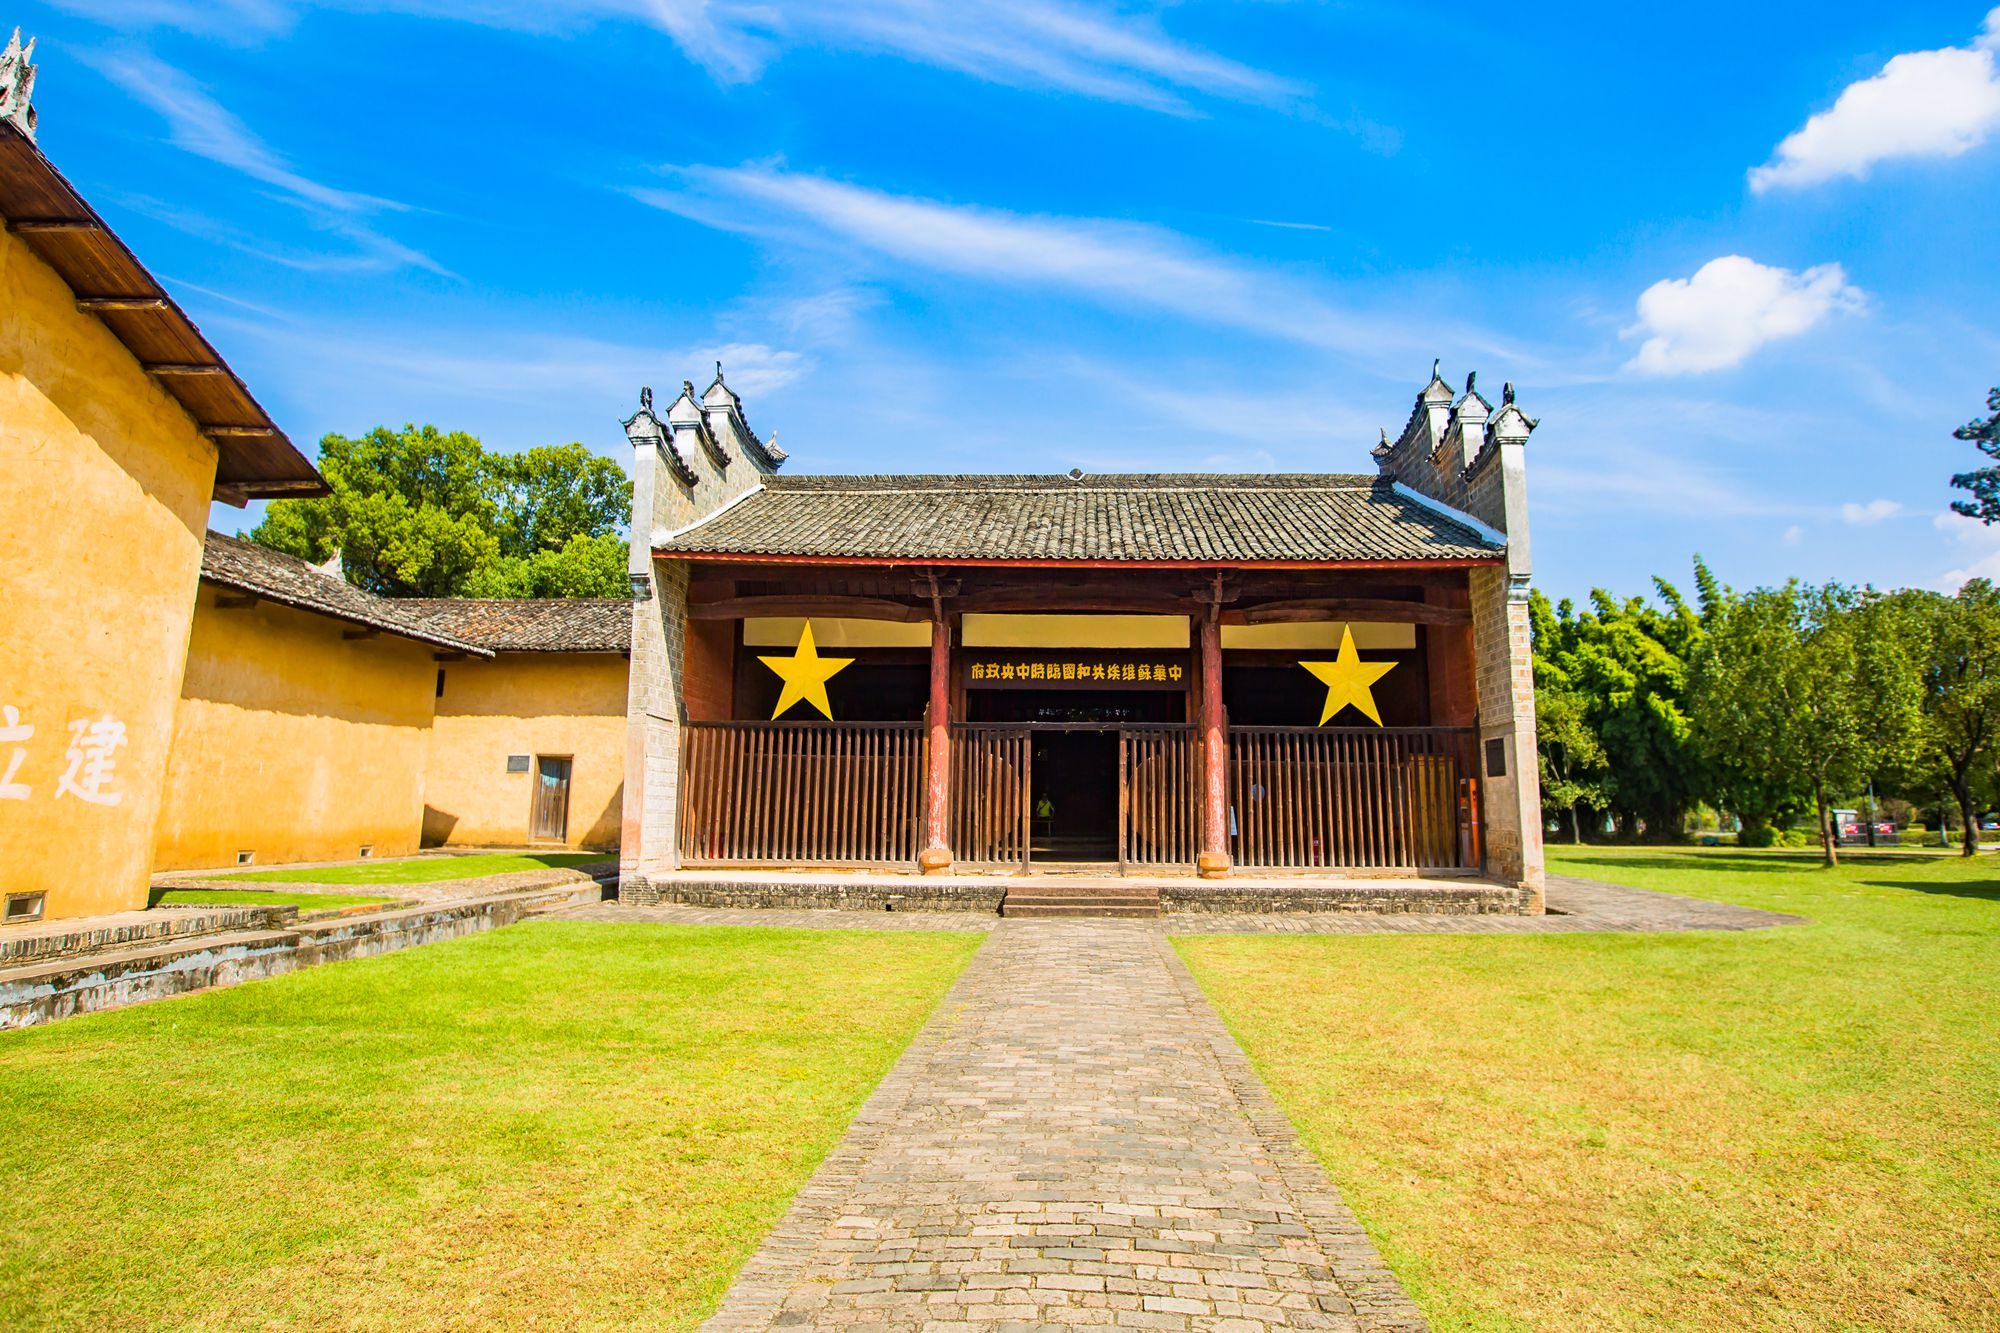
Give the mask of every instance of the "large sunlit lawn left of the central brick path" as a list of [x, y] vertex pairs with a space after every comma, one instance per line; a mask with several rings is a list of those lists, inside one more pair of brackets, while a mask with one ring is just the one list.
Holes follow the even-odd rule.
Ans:
[[0, 1327], [694, 1327], [978, 943], [540, 921], [0, 1033]]

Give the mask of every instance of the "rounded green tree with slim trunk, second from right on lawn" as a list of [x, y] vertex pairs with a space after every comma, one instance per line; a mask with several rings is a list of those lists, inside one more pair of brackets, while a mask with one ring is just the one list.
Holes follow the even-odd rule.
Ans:
[[1696, 671], [1706, 749], [1744, 779], [1804, 785], [1826, 865], [1840, 859], [1832, 799], [1908, 761], [1918, 683], [1878, 598], [1826, 584], [1758, 588], [1708, 628]]

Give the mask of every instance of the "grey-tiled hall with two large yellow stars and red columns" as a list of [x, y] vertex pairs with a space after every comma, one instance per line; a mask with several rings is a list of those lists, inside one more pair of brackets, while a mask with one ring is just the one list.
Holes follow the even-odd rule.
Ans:
[[1532, 430], [1434, 368], [1374, 474], [790, 476], [720, 368], [644, 392], [624, 895], [1088, 869], [1540, 911]]

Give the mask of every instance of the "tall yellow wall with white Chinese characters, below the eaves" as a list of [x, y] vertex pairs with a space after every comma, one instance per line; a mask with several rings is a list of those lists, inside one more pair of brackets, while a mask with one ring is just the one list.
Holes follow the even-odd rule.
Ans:
[[[0, 232], [0, 893], [44, 917], [146, 905], [214, 478], [180, 404]], [[72, 773], [74, 723], [106, 767]]]

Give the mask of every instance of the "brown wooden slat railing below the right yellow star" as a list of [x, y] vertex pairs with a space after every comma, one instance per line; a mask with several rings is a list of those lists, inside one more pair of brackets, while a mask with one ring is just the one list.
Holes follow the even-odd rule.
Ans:
[[1232, 727], [1230, 857], [1260, 869], [1472, 869], [1470, 729]]

